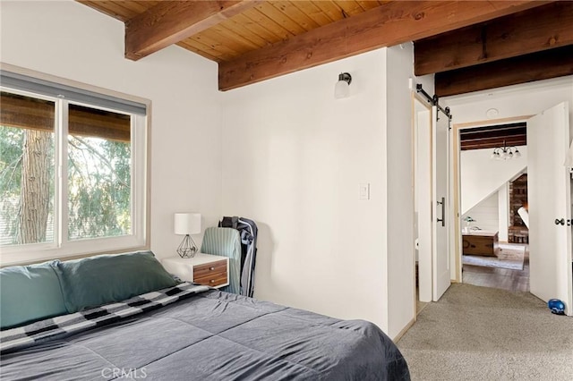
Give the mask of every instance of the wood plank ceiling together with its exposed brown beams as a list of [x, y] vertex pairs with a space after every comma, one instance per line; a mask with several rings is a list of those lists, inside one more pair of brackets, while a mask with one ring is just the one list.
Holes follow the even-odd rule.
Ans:
[[78, 1], [124, 22], [126, 58], [176, 44], [221, 90], [410, 41], [438, 96], [573, 74], [573, 2]]

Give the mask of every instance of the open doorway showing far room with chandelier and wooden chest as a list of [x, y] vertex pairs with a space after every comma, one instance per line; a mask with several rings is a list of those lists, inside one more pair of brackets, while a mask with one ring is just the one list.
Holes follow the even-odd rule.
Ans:
[[526, 123], [456, 131], [462, 282], [529, 291]]

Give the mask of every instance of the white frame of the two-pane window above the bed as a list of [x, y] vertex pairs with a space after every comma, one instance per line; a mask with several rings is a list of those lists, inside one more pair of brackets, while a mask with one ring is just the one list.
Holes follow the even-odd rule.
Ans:
[[[53, 80], [50, 78], [50, 80]], [[67, 83], [66, 83], [67, 84]], [[74, 82], [73, 86], [78, 87]], [[24, 263], [39, 262], [53, 258], [84, 257], [99, 253], [113, 253], [126, 250], [148, 250], [149, 231], [149, 199], [148, 190], [148, 138], [150, 120], [150, 101], [139, 97], [126, 96], [116, 92], [107, 92], [114, 97], [128, 97], [144, 103], [147, 106], [147, 113], [131, 114], [118, 111], [113, 108], [94, 106], [87, 103], [69, 101], [58, 97], [47, 97], [36, 93], [21, 91], [7, 87], [0, 87], [3, 91], [20, 94], [28, 97], [46, 99], [56, 104], [55, 110], [55, 231], [53, 242], [31, 243], [21, 245], [0, 246], [0, 265], [9, 266]], [[90, 89], [90, 86], [83, 85], [79, 89]], [[131, 142], [132, 142], [132, 175], [131, 175], [131, 213], [132, 225], [131, 234], [105, 237], [89, 238], [85, 240], [68, 241], [68, 203], [67, 203], [67, 132], [68, 132], [68, 106], [70, 104], [88, 106], [90, 108], [107, 110], [119, 114], [129, 114], [131, 116]]]

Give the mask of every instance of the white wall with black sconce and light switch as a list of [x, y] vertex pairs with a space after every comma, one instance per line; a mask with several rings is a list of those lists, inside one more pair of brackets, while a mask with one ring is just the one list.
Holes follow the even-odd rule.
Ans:
[[[225, 93], [223, 211], [260, 226], [255, 297], [390, 336], [414, 318], [411, 54], [381, 49]], [[387, 55], [408, 70], [387, 78]], [[345, 99], [333, 97], [340, 72], [353, 77]]]

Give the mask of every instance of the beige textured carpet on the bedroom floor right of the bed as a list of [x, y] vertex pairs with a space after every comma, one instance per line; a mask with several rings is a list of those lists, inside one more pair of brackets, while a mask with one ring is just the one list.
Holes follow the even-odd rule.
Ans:
[[528, 292], [452, 284], [398, 348], [413, 380], [573, 379], [573, 318]]

